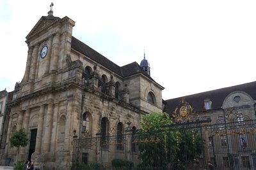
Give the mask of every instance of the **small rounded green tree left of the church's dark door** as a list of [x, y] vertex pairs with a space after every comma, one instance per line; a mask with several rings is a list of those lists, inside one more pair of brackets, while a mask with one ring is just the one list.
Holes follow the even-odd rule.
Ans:
[[10, 138], [10, 143], [12, 147], [25, 147], [28, 145], [28, 134], [25, 132], [24, 128], [13, 134], [12, 138]]

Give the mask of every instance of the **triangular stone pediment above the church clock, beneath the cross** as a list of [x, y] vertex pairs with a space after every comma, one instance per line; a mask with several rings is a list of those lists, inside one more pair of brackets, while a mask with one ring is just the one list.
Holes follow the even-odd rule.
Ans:
[[26, 36], [26, 39], [29, 39], [35, 34], [44, 31], [47, 27], [51, 27], [51, 25], [58, 22], [58, 20], [61, 20], [61, 18], [52, 16], [41, 17], [40, 20], [38, 20], [36, 25], [33, 27], [33, 29], [31, 29], [28, 36]]

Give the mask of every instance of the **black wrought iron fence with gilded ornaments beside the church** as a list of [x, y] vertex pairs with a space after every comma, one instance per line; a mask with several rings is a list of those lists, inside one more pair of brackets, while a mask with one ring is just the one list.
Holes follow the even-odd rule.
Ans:
[[[161, 131], [74, 139], [73, 164], [133, 162], [123, 169], [256, 169], [256, 120], [163, 125]], [[116, 168], [116, 167], [115, 167]], [[120, 167], [121, 168], [121, 167]]]

